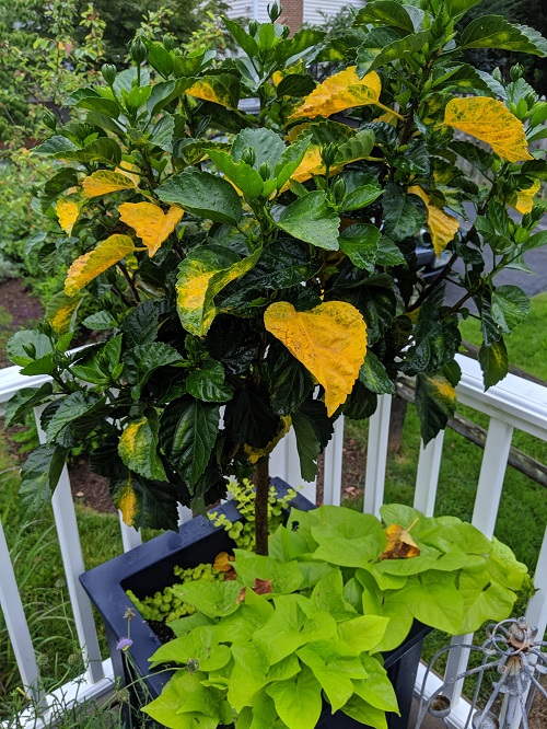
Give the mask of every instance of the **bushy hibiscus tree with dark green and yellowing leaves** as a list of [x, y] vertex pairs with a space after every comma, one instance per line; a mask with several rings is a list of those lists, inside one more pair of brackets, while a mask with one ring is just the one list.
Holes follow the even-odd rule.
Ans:
[[[525, 269], [547, 239], [535, 230], [547, 164], [529, 146], [547, 136], [547, 104], [521, 67], [489, 74], [462, 54], [546, 56], [547, 42], [494, 15], [465, 26], [475, 4], [371, 0], [328, 43], [315, 30], [289, 37], [276, 5], [268, 23], [225, 20], [234, 58], [139, 39], [130, 68], [106, 66], [67, 100], [71, 119], [33, 152], [51, 160], [36, 210], [59, 231], [31, 253], [51, 267], [72, 251], [72, 265], [47, 322], [9, 344], [24, 373], [51, 375], [8, 406], [13, 424], [47, 404], [26, 507], [47, 500], [74, 445], [94, 449], [135, 526], [174, 528], [177, 502], [202, 508], [255, 471], [265, 552], [268, 454], [290, 427], [313, 479], [334, 420], [370, 416], [404, 372], [430, 440], [454, 412], [472, 300], [485, 385], [504, 377], [503, 337], [528, 300], [497, 275]], [[421, 229], [446, 264], [429, 284]], [[453, 306], [446, 280], [461, 289]], [[100, 310], [83, 325], [104, 334], [69, 351], [91, 298]], [[304, 597], [288, 600], [301, 615]], [[298, 681], [316, 681], [309, 669]]]

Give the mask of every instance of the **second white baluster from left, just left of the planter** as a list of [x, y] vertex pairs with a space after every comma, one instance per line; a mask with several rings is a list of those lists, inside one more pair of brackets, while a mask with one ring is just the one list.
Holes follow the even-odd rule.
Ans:
[[[46, 441], [46, 433], [42, 430], [39, 423], [42, 410], [43, 408], [35, 408], [34, 415], [38, 428], [39, 441], [44, 443]], [[91, 602], [78, 579], [85, 570], [85, 567], [67, 466], [62, 468], [59, 483], [54, 491], [51, 507], [54, 509], [65, 577], [67, 578], [67, 587], [74, 614], [80, 648], [84, 664], [86, 666], [88, 678], [94, 683], [101, 681], [103, 678], [103, 666]]]

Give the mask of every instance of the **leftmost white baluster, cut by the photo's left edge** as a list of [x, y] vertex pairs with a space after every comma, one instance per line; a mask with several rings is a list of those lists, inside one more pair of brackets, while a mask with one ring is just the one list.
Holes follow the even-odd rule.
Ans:
[[0, 606], [2, 608], [5, 625], [8, 626], [8, 635], [13, 646], [23, 685], [32, 694], [33, 699], [39, 702], [42, 698], [42, 688], [38, 664], [36, 663], [33, 641], [23, 610], [23, 603], [21, 602], [21, 595], [19, 594], [15, 574], [1, 522], [0, 565], [2, 565], [0, 574]]

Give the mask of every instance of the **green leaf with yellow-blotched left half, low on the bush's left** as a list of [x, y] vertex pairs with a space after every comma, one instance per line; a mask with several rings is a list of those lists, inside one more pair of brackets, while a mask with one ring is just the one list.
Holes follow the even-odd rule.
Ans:
[[126, 424], [119, 439], [118, 453], [128, 468], [144, 478], [168, 481], [158, 452], [158, 415], [152, 413], [150, 417]]

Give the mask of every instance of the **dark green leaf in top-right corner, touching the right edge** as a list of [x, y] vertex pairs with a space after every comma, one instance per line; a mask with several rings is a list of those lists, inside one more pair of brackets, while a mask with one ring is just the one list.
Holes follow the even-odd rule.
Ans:
[[503, 48], [547, 56], [547, 40], [532, 27], [513, 25], [502, 15], [481, 15], [472, 21], [459, 38], [461, 48]]

